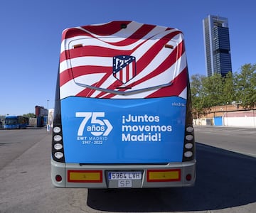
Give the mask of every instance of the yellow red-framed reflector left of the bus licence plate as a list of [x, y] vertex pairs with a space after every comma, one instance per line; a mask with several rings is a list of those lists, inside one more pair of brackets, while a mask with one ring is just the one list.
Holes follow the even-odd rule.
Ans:
[[68, 182], [102, 182], [102, 170], [68, 170]]

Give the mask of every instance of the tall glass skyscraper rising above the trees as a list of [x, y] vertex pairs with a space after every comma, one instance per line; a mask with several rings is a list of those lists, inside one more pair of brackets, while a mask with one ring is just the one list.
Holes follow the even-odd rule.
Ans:
[[232, 72], [228, 18], [211, 15], [204, 18], [203, 40], [208, 77]]

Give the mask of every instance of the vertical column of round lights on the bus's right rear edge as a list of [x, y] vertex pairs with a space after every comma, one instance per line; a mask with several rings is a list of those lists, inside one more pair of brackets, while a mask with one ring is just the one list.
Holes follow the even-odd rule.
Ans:
[[193, 160], [195, 150], [195, 138], [193, 126], [187, 126], [185, 132], [183, 161]]

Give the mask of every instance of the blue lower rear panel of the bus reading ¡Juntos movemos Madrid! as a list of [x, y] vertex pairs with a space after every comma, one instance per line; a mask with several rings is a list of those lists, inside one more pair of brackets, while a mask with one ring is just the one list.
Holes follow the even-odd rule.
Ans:
[[66, 163], [182, 161], [185, 99], [69, 97], [60, 104]]

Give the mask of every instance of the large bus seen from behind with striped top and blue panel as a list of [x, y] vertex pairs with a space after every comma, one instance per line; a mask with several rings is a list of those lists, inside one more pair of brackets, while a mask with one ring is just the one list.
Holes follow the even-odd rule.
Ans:
[[183, 33], [110, 21], [63, 31], [53, 116], [56, 187], [187, 187], [196, 181]]

